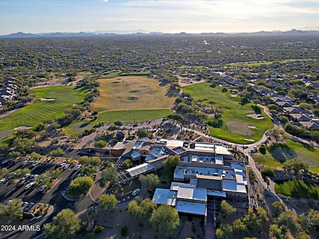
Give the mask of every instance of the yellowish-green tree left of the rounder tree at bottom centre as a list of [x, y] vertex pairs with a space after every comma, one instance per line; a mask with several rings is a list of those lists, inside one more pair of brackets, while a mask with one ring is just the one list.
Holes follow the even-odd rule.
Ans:
[[128, 206], [128, 213], [142, 222], [145, 219], [150, 218], [153, 210], [156, 208], [156, 203], [151, 199], [143, 199], [136, 197], [134, 201], [131, 201]]

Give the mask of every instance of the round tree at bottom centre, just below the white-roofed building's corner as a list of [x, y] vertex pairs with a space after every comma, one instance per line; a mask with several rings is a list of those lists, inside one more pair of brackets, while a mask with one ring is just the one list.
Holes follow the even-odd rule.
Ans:
[[150, 223], [153, 228], [164, 236], [168, 236], [179, 226], [178, 213], [174, 208], [166, 204], [161, 205], [152, 212]]

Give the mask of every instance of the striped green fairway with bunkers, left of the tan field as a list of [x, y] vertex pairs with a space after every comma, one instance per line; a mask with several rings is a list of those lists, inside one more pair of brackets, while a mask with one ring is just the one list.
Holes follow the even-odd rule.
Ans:
[[[74, 86], [51, 86], [33, 89], [35, 100], [16, 112], [0, 119], [0, 130], [13, 129], [18, 126], [37, 126], [42, 119], [59, 118], [64, 115], [63, 110], [72, 108], [74, 104], [84, 100], [88, 93], [85, 88]], [[54, 101], [40, 101], [40, 98], [55, 99]]]

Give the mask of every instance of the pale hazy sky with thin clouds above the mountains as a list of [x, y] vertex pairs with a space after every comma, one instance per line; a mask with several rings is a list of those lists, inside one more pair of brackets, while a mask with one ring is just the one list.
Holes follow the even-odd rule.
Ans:
[[0, 35], [319, 30], [319, 0], [0, 0], [0, 22]]

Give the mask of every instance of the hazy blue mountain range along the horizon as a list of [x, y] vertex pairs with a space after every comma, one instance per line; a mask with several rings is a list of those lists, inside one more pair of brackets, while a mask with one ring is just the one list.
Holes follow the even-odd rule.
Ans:
[[[143, 31], [143, 30], [141, 30]], [[54, 33], [23, 33], [16, 32], [8, 35], [2, 35], [0, 38], [41, 38], [41, 37], [107, 37], [107, 36], [319, 36], [318, 30], [296, 30], [292, 29], [290, 31], [258, 31], [258, 32], [243, 32], [243, 33], [163, 33], [163, 32], [134, 32], [127, 33], [127, 31], [122, 34], [119, 33], [109, 33], [105, 31], [95, 31], [95, 32], [54, 32]]]

